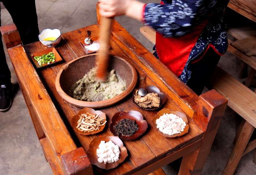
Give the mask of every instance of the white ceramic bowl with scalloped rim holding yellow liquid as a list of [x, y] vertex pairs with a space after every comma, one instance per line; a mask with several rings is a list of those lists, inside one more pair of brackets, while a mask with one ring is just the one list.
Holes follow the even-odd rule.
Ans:
[[47, 47], [54, 47], [60, 42], [61, 33], [59, 29], [45, 29], [41, 34], [38, 35], [41, 43]]

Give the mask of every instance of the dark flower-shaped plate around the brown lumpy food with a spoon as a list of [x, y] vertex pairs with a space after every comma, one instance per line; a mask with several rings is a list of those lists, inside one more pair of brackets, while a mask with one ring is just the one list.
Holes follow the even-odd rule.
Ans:
[[146, 109], [146, 110], [150, 110], [150, 111], [154, 111], [156, 109], [159, 109], [164, 103], [165, 103], [165, 100], [166, 100], [166, 96], [164, 93], [160, 92], [160, 90], [158, 88], [156, 88], [156, 86], [146, 86], [145, 87], [146, 90], [148, 91], [148, 94], [149, 93], [157, 93], [158, 94], [158, 97], [160, 98], [160, 105], [158, 107], [152, 107], [152, 108], [143, 108], [141, 106], [139, 106], [135, 100], [134, 100], [134, 95], [136, 94], [137, 90], [139, 89], [135, 89], [134, 92], [133, 92], [133, 99], [132, 99], [132, 102], [133, 104], [135, 104], [136, 106], [138, 106], [139, 108], [142, 108], [142, 109]]

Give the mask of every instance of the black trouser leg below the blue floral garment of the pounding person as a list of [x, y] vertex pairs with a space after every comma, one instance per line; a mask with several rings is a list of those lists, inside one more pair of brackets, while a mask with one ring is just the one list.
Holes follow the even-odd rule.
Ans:
[[210, 47], [201, 60], [190, 65], [191, 77], [187, 85], [197, 95], [200, 95], [204, 90], [219, 60], [220, 55]]

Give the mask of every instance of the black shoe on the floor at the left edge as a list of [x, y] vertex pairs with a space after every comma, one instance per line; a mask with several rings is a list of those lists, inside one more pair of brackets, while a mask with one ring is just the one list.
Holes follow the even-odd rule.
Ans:
[[13, 84], [1, 84], [0, 85], [0, 111], [7, 111], [12, 105], [12, 90]]

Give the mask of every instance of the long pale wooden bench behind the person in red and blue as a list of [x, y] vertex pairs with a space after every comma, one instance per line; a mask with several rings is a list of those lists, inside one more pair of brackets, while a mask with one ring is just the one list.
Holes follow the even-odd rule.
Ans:
[[[152, 28], [143, 26], [140, 28], [140, 32], [155, 44], [156, 32]], [[234, 47], [229, 48], [237, 56], [242, 56]], [[245, 57], [243, 54], [242, 57], [248, 61], [248, 56]], [[213, 88], [225, 96], [229, 100], [228, 106], [243, 117], [234, 139], [234, 149], [223, 171], [223, 174], [233, 174], [241, 157], [256, 148], [256, 140], [248, 143], [256, 127], [256, 94], [218, 66], [210, 78], [207, 88]], [[253, 161], [256, 163], [256, 154], [254, 154]]]

